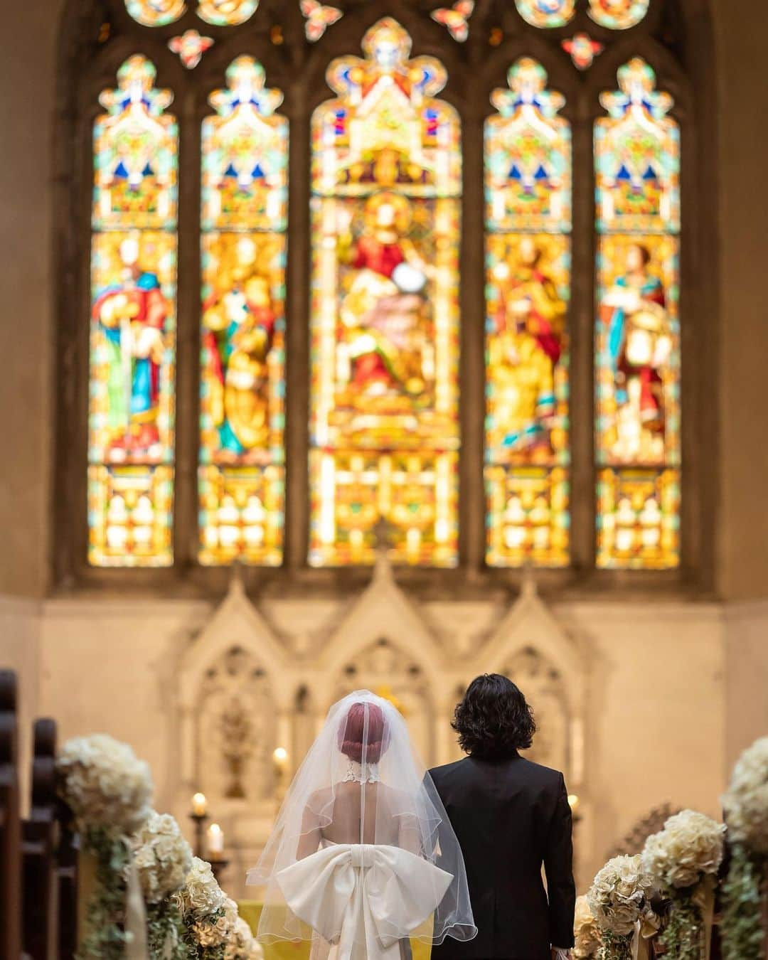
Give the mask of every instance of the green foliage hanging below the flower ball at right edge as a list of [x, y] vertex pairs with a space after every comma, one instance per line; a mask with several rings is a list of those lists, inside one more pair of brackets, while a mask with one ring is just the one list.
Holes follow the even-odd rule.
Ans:
[[723, 960], [763, 960], [764, 876], [764, 860], [751, 856], [743, 847], [733, 847], [728, 879], [723, 885]]

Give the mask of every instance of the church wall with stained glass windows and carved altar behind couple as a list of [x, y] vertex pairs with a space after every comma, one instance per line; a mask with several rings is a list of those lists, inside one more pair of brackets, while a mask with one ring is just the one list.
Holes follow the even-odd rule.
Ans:
[[432, 766], [497, 672], [580, 893], [719, 820], [768, 733], [768, 5], [9, 6], [22, 783], [37, 717], [129, 744], [244, 900], [332, 703]]

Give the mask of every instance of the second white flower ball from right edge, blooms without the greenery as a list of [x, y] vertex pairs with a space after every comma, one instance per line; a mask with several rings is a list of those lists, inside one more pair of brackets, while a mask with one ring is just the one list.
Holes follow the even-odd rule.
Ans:
[[646, 840], [643, 869], [666, 887], [692, 887], [720, 869], [725, 829], [695, 810], [676, 813]]

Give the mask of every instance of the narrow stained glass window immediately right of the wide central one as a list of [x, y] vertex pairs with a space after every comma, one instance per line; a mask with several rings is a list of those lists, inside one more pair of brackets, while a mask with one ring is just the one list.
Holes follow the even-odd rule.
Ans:
[[492, 566], [568, 563], [571, 139], [517, 60], [486, 122], [486, 492]]

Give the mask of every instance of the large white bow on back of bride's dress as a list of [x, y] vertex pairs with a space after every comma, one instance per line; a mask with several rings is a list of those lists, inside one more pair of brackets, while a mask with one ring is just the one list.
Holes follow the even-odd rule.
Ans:
[[399, 960], [398, 941], [437, 909], [453, 876], [399, 847], [338, 844], [276, 880], [300, 921], [338, 944], [338, 960]]

